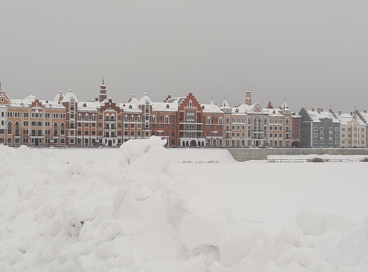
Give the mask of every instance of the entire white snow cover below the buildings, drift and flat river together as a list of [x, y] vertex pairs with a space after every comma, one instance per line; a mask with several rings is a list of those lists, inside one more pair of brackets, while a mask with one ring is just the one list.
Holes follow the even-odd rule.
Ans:
[[161, 145], [0, 146], [0, 271], [368, 271], [368, 164]]

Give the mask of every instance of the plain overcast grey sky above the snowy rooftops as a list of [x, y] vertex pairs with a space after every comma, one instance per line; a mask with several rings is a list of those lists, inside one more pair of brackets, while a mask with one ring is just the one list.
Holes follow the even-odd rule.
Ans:
[[346, 112], [368, 108], [368, 1], [0, 1], [0, 79], [11, 98], [70, 86], [126, 102], [193, 92]]

